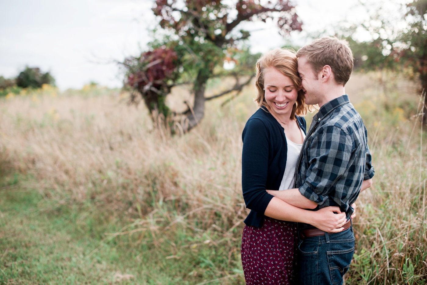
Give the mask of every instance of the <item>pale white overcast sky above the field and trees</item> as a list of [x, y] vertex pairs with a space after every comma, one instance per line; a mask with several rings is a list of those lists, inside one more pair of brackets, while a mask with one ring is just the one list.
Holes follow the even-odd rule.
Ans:
[[[307, 32], [357, 15], [357, 0], [298, 0]], [[82, 88], [94, 81], [121, 87], [116, 61], [137, 55], [155, 21], [151, 0], [0, 0], [0, 75], [15, 77], [29, 67], [50, 71], [59, 88]], [[360, 15], [359, 15], [360, 16]], [[252, 51], [280, 47], [275, 24], [251, 24]], [[263, 30], [260, 30], [263, 29]], [[304, 33], [294, 35], [304, 44]]]

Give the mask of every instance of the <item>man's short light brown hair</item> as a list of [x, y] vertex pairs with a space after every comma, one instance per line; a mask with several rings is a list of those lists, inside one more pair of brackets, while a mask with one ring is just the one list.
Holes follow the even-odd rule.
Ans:
[[337, 84], [345, 85], [353, 71], [353, 53], [348, 41], [336, 37], [318, 38], [301, 47], [296, 56], [304, 56], [316, 74], [329, 65]]

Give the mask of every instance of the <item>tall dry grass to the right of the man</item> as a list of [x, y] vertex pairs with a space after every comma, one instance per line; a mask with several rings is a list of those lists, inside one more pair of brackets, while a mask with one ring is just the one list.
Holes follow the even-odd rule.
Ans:
[[418, 85], [371, 73], [355, 104], [369, 130], [374, 187], [360, 194], [351, 284], [426, 284], [426, 127]]

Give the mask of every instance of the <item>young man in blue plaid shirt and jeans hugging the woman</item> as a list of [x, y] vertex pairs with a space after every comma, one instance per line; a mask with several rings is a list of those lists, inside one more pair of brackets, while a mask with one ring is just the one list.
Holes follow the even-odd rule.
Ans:
[[348, 218], [344, 230], [334, 234], [302, 226], [298, 275], [300, 284], [342, 284], [354, 253], [351, 204], [363, 181], [370, 184], [374, 176], [365, 125], [344, 91], [353, 54], [347, 41], [325, 37], [296, 55], [305, 102], [320, 109], [298, 159], [295, 187], [317, 209], [339, 206]]

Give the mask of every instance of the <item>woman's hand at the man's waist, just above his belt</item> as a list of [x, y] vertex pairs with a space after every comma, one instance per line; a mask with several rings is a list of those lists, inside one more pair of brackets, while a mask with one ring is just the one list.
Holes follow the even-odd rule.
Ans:
[[346, 220], [345, 212], [341, 212], [339, 207], [329, 206], [313, 212], [310, 224], [324, 232], [341, 232]]

